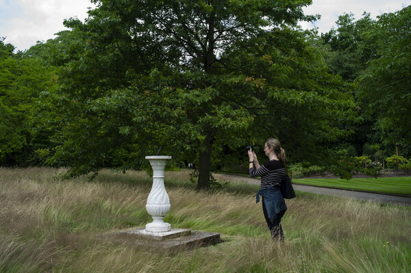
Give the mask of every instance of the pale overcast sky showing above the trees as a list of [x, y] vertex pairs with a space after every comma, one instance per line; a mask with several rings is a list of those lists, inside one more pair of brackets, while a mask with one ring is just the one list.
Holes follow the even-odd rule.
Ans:
[[[358, 19], [363, 12], [369, 12], [376, 18], [410, 4], [411, 0], [313, 0], [304, 11], [320, 14], [321, 20], [301, 25], [305, 29], [319, 27], [319, 33], [323, 33], [344, 13], [352, 12]], [[65, 29], [63, 20], [66, 18], [77, 16], [84, 21], [88, 7], [95, 7], [90, 0], [0, 0], [0, 37], [6, 37], [6, 43], [23, 51], [38, 40], [55, 38], [55, 33]]]

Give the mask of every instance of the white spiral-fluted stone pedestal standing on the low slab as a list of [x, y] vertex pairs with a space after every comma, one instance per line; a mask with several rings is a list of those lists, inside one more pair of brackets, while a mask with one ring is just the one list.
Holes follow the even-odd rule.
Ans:
[[164, 187], [164, 168], [167, 160], [171, 159], [169, 155], [153, 155], [145, 157], [150, 161], [153, 168], [153, 187], [149, 198], [147, 198], [146, 209], [153, 218], [153, 222], [146, 224], [145, 231], [151, 233], [160, 233], [171, 231], [171, 224], [164, 222], [164, 216], [169, 213], [171, 204], [169, 195]]

